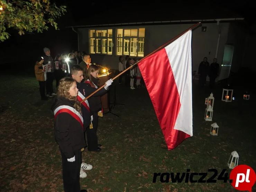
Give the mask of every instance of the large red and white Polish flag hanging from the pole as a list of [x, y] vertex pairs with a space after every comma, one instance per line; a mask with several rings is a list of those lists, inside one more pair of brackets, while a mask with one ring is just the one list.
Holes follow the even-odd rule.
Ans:
[[193, 136], [191, 33], [138, 63], [169, 150]]

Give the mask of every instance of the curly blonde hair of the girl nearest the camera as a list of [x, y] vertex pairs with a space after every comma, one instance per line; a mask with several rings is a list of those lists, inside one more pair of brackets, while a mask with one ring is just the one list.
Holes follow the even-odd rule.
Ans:
[[77, 100], [76, 97], [72, 97], [70, 95], [70, 93], [68, 92], [74, 82], [76, 82], [76, 81], [74, 79], [72, 79], [71, 77], [62, 78], [58, 85], [57, 94], [58, 94], [58, 97], [64, 97], [68, 100], [75, 101], [75, 104], [73, 107], [76, 111], [78, 111], [82, 115], [81, 103]]

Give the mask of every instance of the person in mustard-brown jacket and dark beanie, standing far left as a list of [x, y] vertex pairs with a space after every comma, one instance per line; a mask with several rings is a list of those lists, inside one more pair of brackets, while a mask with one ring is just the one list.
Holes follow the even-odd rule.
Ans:
[[41, 100], [48, 100], [49, 98], [45, 95], [45, 75], [43, 69], [44, 58], [38, 57], [35, 64], [35, 75], [36, 80], [39, 82], [39, 92]]

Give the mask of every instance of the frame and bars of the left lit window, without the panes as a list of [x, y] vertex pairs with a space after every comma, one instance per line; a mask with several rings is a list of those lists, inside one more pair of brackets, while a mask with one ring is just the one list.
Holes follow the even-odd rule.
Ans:
[[[95, 33], [95, 36], [94, 37], [91, 37], [91, 30], [94, 30], [94, 33]], [[107, 30], [107, 36], [106, 37], [97, 37], [97, 35], [96, 35], [96, 31], [106, 31]], [[109, 36], [109, 30], [112, 30], [112, 37], [108, 37]], [[95, 41], [95, 44], [94, 45], [91, 45], [91, 39], [94, 39], [94, 41]], [[96, 43], [96, 39], [101, 39], [101, 44], [103, 44], [102, 42], [102, 39], [106, 39], [106, 44], [107, 44], [107, 49], [106, 49], [106, 53], [102, 53], [102, 50], [103, 50], [103, 47], [105, 47], [105, 46], [102, 46], [101, 45], [101, 53], [97, 53], [97, 47], [99, 47], [99, 46], [97, 46], [97, 43]], [[109, 39], [111, 39], [111, 46], [109, 46]], [[91, 47], [94, 47], [94, 50], [95, 50], [95, 52], [94, 53], [92, 53], [91, 52]], [[111, 54], [108, 54], [108, 50], [109, 50], [109, 47], [111, 47]], [[107, 28], [107, 29], [102, 29], [102, 28], [90, 28], [89, 29], [89, 54], [92, 54], [92, 55], [106, 55], [106, 56], [113, 56], [113, 51], [114, 51], [114, 49], [113, 49], [113, 28]]]

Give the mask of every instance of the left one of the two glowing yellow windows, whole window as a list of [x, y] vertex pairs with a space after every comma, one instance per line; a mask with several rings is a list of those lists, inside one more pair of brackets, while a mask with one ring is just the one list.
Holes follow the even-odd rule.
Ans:
[[90, 29], [90, 54], [112, 55], [112, 29]]

